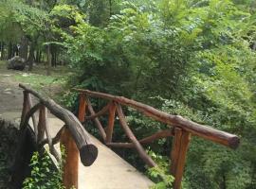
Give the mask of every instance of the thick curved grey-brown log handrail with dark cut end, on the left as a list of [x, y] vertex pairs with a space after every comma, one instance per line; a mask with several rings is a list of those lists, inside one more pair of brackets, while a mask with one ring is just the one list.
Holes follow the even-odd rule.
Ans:
[[36, 96], [52, 114], [64, 121], [66, 128], [70, 131], [72, 138], [78, 146], [83, 165], [89, 166], [94, 163], [98, 156], [98, 148], [92, 144], [88, 132], [82, 127], [78, 118], [53, 100], [41, 96], [41, 94], [27, 88], [25, 85], [19, 84], [19, 86], [27, 91], [27, 93]]

